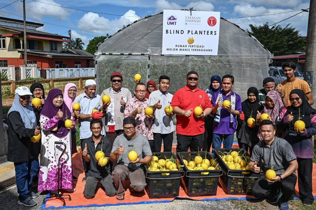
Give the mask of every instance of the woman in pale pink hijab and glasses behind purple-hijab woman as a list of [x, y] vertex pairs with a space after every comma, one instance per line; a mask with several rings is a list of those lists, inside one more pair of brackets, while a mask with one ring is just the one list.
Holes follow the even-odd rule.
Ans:
[[[74, 111], [72, 110], [72, 105], [75, 103], [77, 96], [77, 86], [74, 83], [68, 83], [64, 89], [64, 104], [68, 107], [74, 120], [77, 119]], [[79, 115], [79, 112], [77, 112]], [[77, 153], [76, 144], [76, 130], [71, 130], [71, 154]]]

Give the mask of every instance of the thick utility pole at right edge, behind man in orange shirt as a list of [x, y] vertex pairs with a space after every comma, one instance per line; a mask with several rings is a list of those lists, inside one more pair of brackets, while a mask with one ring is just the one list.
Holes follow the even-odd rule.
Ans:
[[[306, 58], [305, 72], [313, 72], [313, 81], [316, 82], [316, 1], [310, 1], [307, 27], [307, 43], [306, 43]], [[312, 95], [316, 99], [316, 83], [312, 87]]]

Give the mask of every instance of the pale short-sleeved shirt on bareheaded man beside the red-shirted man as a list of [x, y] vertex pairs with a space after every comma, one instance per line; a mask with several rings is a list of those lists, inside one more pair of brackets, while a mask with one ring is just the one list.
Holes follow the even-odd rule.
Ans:
[[165, 107], [170, 105], [173, 95], [166, 92], [163, 93], [161, 90], [156, 90], [149, 95], [149, 106], [152, 106], [158, 103], [162, 105], [161, 109], [156, 109], [155, 111], [155, 120], [153, 125], [154, 133], [168, 134], [173, 132], [174, 126], [172, 122], [172, 117], [167, 116], [165, 113]]

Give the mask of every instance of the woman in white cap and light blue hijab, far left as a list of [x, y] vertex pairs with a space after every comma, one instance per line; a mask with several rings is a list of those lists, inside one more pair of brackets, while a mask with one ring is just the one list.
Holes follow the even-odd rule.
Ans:
[[18, 204], [24, 206], [35, 206], [33, 198], [38, 196], [31, 191], [33, 178], [39, 168], [39, 151], [30, 137], [40, 134], [30, 105], [31, 95], [27, 87], [16, 88], [15, 99], [8, 112], [8, 161], [14, 162]]

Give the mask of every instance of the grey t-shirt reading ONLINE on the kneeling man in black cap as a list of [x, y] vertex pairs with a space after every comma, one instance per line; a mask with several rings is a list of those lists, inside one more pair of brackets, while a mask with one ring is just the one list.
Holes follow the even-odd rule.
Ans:
[[137, 136], [133, 139], [129, 139], [126, 137], [126, 135], [123, 133], [116, 137], [113, 143], [112, 152], [114, 152], [119, 146], [122, 144], [122, 147], [124, 148], [124, 154], [119, 155], [119, 159], [117, 161], [118, 164], [124, 163], [129, 168], [132, 169], [138, 169], [142, 167], [142, 164], [136, 163], [132, 164], [130, 160], [128, 159], [127, 155], [131, 150], [134, 150], [139, 155], [140, 159], [143, 159], [143, 157], [147, 155], [152, 155], [150, 146], [148, 143], [148, 140], [145, 136], [138, 133]]

